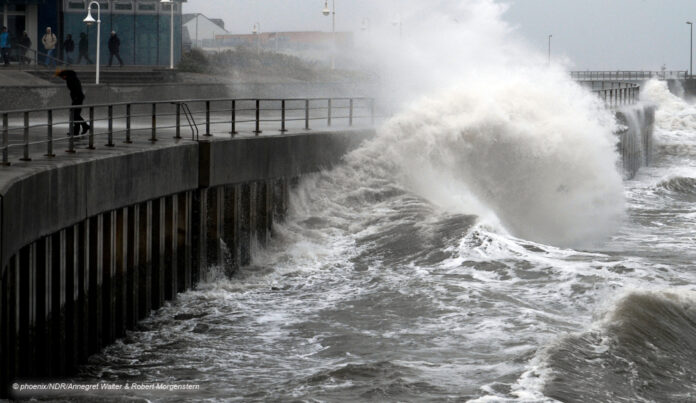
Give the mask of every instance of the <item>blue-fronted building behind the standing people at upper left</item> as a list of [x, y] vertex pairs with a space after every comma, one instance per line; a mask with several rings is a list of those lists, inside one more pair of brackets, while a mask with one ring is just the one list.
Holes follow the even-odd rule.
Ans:
[[[174, 0], [174, 60], [181, 58], [181, 3]], [[0, 4], [0, 20], [8, 27], [10, 38], [17, 43], [23, 31], [31, 38], [32, 48], [44, 52], [41, 38], [46, 27], [62, 44], [68, 34], [75, 41], [73, 58], [77, 58], [80, 33], [87, 34], [89, 55], [95, 61], [97, 26], [83, 22], [87, 16], [88, 0], [4, 0]], [[168, 65], [170, 40], [169, 4], [159, 0], [99, 0], [101, 7], [101, 60], [108, 62], [107, 43], [111, 31], [121, 40], [121, 58], [126, 64]], [[96, 6], [92, 15], [97, 18]], [[58, 57], [63, 57], [62, 46]], [[39, 57], [43, 61], [42, 57]]]

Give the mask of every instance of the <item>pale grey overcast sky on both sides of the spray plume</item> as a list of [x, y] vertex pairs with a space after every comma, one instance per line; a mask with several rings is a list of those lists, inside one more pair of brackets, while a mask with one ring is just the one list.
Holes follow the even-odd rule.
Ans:
[[[362, 21], [393, 23], [408, 10], [385, 13], [382, 0], [336, 0], [336, 29], [360, 38]], [[424, 4], [437, 0], [422, 0]], [[451, 2], [456, 2], [449, 0]], [[689, 25], [696, 22], [696, 0], [505, 0], [503, 19], [531, 47], [546, 52], [552, 34], [553, 58], [576, 69], [659, 69], [689, 67]], [[384, 5], [384, 3], [380, 3]], [[259, 22], [268, 31], [330, 31], [323, 0], [188, 0], [184, 12], [222, 18], [232, 33], [251, 33]], [[413, 18], [413, 17], [411, 17]], [[417, 16], [416, 16], [417, 18]], [[395, 30], [397, 28], [394, 28]], [[437, 29], [437, 27], [433, 27]], [[404, 37], [408, 20], [403, 18]], [[363, 34], [364, 35], [364, 34]]]

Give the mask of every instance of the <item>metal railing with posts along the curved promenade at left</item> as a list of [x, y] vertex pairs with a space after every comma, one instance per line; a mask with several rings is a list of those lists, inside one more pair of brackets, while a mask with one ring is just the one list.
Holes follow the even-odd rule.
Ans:
[[[74, 106], [46, 109], [0, 111], [2, 116], [2, 164], [10, 165], [10, 154], [17, 150], [21, 161], [31, 161], [31, 154], [45, 149], [44, 156], [54, 157], [56, 143], [67, 143], [68, 153], [75, 153], [79, 142], [94, 149], [97, 138], [105, 138], [106, 147], [117, 140], [132, 143], [135, 136], [156, 142], [162, 132], [183, 139], [182, 127], [191, 130], [191, 140], [200, 136], [224, 133], [234, 137], [243, 131], [259, 136], [264, 130], [284, 133], [290, 129], [310, 130], [310, 126], [331, 127], [356, 123], [373, 125], [373, 98], [285, 98], [285, 99], [187, 99], [152, 102], [122, 102], [79, 106], [89, 129], [73, 133], [71, 111]], [[182, 124], [181, 115], [186, 121]], [[54, 136], [56, 132], [65, 134]]]

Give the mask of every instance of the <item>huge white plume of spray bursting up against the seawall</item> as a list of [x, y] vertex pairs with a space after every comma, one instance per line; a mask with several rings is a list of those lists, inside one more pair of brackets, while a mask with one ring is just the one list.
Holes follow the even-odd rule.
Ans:
[[418, 19], [410, 29], [423, 35], [411, 32], [406, 55], [387, 52], [388, 77], [406, 83], [394, 92], [412, 99], [429, 88], [430, 95], [389, 120], [350, 161], [385, 163], [436, 205], [500, 221], [520, 237], [575, 246], [609, 235], [623, 214], [613, 116], [511, 39], [504, 7], [439, 3], [427, 11], [412, 4]]

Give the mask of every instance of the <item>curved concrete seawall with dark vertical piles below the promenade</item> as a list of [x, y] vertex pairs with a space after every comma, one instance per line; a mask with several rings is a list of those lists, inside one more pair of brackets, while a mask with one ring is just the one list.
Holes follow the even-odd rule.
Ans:
[[249, 264], [289, 184], [372, 135], [211, 139], [13, 167], [0, 187], [0, 397], [17, 379], [70, 374], [208, 265]]

